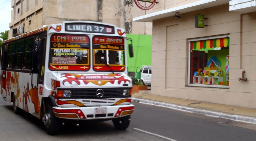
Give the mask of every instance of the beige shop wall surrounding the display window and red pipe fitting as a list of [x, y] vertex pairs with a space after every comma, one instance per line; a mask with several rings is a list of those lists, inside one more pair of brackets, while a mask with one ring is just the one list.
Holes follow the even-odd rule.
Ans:
[[[195, 14], [208, 27], [194, 28]], [[152, 94], [256, 108], [256, 12], [241, 15], [225, 4], [180, 16], [153, 21]], [[218, 35], [230, 36], [229, 88], [187, 86], [188, 39]], [[238, 81], [243, 70], [248, 81]]]

